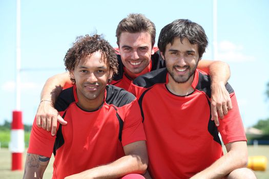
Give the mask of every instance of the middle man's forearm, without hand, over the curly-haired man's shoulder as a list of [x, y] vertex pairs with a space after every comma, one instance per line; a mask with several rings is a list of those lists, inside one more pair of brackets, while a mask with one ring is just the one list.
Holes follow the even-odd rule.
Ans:
[[56, 98], [59, 96], [66, 82], [70, 82], [69, 73], [57, 74], [50, 77], [41, 92], [41, 100], [49, 100], [55, 104]]

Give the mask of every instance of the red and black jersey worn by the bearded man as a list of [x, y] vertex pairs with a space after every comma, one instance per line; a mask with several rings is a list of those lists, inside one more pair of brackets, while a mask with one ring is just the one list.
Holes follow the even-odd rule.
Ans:
[[220, 120], [211, 120], [211, 80], [196, 70], [187, 96], [167, 88], [167, 69], [159, 69], [133, 81], [147, 136], [149, 171], [153, 178], [190, 178], [222, 155], [224, 144], [246, 141], [233, 88], [226, 84], [233, 109]]

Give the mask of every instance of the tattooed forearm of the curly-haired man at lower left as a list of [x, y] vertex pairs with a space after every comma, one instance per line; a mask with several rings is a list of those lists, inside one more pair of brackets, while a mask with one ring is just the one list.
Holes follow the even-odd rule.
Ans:
[[24, 179], [43, 178], [43, 174], [49, 164], [49, 158], [37, 154], [27, 153]]

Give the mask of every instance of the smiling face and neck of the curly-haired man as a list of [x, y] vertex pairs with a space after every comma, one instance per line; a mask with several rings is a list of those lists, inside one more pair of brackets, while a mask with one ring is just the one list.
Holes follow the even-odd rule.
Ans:
[[99, 51], [94, 52], [81, 58], [70, 75], [75, 79], [78, 105], [85, 110], [93, 105], [98, 108], [104, 100], [108, 80], [112, 77], [107, 60], [101, 59]]

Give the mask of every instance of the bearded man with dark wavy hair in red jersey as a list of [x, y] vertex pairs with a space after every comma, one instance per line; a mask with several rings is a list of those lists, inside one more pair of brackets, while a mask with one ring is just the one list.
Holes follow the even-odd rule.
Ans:
[[[146, 178], [256, 178], [246, 167], [247, 147], [233, 88], [233, 109], [217, 127], [211, 120], [211, 80], [197, 69], [208, 45], [203, 28], [188, 19], [165, 26], [158, 48], [166, 68], [132, 84], [149, 154]], [[223, 155], [220, 133], [227, 153]]]

